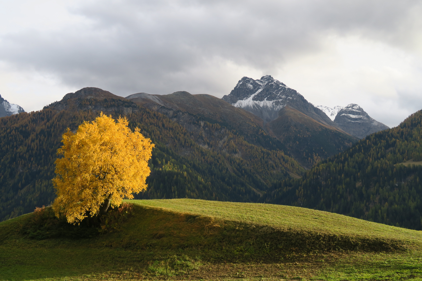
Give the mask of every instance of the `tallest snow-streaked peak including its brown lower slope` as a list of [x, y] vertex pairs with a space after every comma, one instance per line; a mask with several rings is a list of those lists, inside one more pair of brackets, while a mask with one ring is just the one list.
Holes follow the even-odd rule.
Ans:
[[260, 118], [265, 131], [286, 145], [306, 168], [357, 140], [296, 90], [270, 75], [257, 80], [243, 77], [222, 99]]

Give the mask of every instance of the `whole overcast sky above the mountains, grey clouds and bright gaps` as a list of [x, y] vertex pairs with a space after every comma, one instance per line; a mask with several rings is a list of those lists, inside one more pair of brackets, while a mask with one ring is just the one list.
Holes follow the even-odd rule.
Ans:
[[0, 0], [0, 94], [229, 94], [263, 75], [397, 126], [422, 108], [422, 0]]

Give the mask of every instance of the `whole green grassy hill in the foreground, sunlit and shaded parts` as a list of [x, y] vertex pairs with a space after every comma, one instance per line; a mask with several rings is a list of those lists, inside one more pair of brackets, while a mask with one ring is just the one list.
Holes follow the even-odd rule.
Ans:
[[422, 232], [297, 207], [130, 201], [89, 238], [31, 239], [0, 223], [0, 280], [421, 280]]

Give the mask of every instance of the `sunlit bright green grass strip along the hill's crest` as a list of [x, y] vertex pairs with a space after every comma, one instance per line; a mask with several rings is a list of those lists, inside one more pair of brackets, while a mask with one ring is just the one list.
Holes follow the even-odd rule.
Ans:
[[421, 231], [293, 206], [195, 199], [127, 200], [127, 202], [173, 212], [209, 216], [252, 225], [266, 225], [280, 230], [387, 238], [422, 244]]

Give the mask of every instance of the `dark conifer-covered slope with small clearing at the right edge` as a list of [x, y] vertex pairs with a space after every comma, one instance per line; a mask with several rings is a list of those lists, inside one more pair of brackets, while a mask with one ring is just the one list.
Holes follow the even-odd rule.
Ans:
[[322, 161], [302, 179], [280, 181], [265, 202], [421, 230], [421, 126], [422, 110]]

